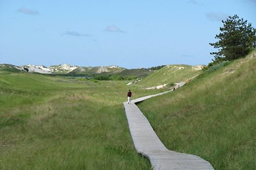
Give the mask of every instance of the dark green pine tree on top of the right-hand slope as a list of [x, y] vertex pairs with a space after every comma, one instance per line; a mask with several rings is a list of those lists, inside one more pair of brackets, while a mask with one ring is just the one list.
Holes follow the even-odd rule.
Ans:
[[214, 48], [218, 48], [218, 52], [211, 53], [214, 55], [214, 62], [239, 59], [256, 48], [256, 29], [252, 24], [247, 24], [247, 20], [234, 15], [222, 22], [221, 32], [215, 36], [219, 41], [209, 43]]

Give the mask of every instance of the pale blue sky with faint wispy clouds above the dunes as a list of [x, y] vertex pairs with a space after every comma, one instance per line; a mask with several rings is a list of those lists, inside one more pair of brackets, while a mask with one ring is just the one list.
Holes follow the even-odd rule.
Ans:
[[256, 27], [256, 0], [0, 0], [0, 63], [208, 64], [221, 20]]

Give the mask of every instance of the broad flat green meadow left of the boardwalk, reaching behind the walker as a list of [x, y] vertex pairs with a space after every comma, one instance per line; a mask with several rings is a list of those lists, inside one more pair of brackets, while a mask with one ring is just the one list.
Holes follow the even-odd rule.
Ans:
[[150, 169], [129, 134], [126, 83], [1, 70], [0, 169]]

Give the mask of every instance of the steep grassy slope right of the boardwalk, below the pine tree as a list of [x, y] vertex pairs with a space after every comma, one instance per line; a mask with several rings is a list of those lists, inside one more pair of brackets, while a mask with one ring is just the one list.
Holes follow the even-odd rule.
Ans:
[[215, 169], [255, 169], [256, 52], [223, 65], [139, 107], [170, 150]]

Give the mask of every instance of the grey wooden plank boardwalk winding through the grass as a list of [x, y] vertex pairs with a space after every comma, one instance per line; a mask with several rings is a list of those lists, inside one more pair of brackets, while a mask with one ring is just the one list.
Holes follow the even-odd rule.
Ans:
[[[185, 83], [179, 83], [175, 89], [182, 87]], [[168, 150], [152, 129], [147, 118], [143, 115], [135, 103], [159, 96], [155, 94], [132, 100], [131, 104], [124, 103], [132, 141], [138, 153], [148, 157], [154, 169], [213, 169], [206, 160], [186, 153], [177, 153]]]

